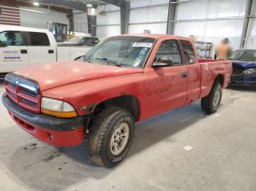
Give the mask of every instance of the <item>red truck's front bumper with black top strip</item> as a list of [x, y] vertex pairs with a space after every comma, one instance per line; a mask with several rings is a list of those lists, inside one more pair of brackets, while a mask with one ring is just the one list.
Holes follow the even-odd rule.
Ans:
[[87, 117], [59, 118], [34, 114], [21, 108], [4, 93], [1, 98], [12, 120], [32, 136], [58, 147], [82, 144]]

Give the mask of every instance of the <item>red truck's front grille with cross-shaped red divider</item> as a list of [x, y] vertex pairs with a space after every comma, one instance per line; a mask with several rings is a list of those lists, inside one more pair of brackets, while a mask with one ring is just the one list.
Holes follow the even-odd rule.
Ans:
[[38, 85], [35, 82], [17, 76], [16, 74], [7, 74], [4, 82], [7, 95], [24, 109], [39, 113], [41, 95], [37, 90]]

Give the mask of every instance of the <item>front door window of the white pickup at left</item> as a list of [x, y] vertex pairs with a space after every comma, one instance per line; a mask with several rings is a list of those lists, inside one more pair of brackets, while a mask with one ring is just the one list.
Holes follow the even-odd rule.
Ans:
[[23, 46], [23, 36], [20, 31], [4, 31], [0, 34], [1, 47]]

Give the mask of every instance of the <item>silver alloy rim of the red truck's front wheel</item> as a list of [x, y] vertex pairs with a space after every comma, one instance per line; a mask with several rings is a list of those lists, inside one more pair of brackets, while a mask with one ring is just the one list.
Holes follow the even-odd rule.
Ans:
[[110, 140], [110, 152], [113, 155], [120, 155], [127, 146], [129, 140], [129, 125], [121, 122], [114, 130]]

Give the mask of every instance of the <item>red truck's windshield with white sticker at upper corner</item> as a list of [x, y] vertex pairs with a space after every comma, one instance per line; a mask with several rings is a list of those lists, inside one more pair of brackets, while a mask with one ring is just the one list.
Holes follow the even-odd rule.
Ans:
[[118, 36], [97, 44], [86, 54], [94, 62], [117, 63], [118, 66], [142, 67], [155, 39], [140, 36]]

